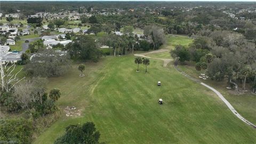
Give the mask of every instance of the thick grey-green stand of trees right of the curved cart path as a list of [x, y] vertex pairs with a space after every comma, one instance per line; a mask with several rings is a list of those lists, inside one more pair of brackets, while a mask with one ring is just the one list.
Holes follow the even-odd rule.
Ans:
[[236, 91], [239, 87], [247, 90], [246, 84], [256, 91], [255, 43], [239, 33], [201, 31], [201, 37], [188, 47], [178, 45], [171, 54], [180, 62], [194, 61], [197, 70], [215, 81], [226, 79]]

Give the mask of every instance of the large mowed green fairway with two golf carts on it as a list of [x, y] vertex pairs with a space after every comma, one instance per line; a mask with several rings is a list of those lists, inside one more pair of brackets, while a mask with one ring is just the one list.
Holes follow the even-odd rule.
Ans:
[[49, 90], [62, 93], [58, 106], [75, 106], [82, 116], [63, 116], [34, 143], [53, 143], [66, 126], [90, 121], [107, 143], [256, 143], [255, 129], [212, 91], [161, 60], [150, 59], [149, 73], [143, 66], [137, 73], [134, 58], [106, 57], [85, 63], [85, 77], [73, 65], [67, 75], [50, 78]]

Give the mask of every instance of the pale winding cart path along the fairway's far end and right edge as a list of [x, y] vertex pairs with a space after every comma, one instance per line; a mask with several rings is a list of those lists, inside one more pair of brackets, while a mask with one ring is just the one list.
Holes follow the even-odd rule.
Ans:
[[[134, 56], [137, 56], [137, 57], [144, 57], [144, 58], [151, 58], [151, 57], [147, 57], [145, 55], [147, 54], [151, 54], [151, 53], [160, 53], [160, 52], [166, 52], [166, 51], [169, 51], [169, 50], [166, 50], [166, 49], [161, 49], [161, 50], [157, 50], [157, 51], [151, 51], [151, 52], [147, 52], [147, 53], [140, 53], [140, 54], [134, 54]], [[168, 63], [170, 63], [172, 61], [172, 59], [161, 59], [161, 58], [151, 58], [151, 59], [157, 59], [157, 60], [163, 60], [164, 61], [164, 64], [163, 64], [163, 67], [166, 67]], [[238, 117], [239, 119], [241, 119], [244, 123], [254, 127], [256, 129], [256, 125], [254, 125], [253, 123], [247, 121], [243, 116], [241, 116], [239, 113], [237, 113], [237, 111], [235, 110], [235, 108], [223, 97], [223, 95], [215, 90], [213, 87], [205, 84], [205, 83], [202, 83], [201, 81], [199, 81], [198, 79], [196, 78], [193, 78], [189, 75], [187, 75], [186, 73], [184, 73], [183, 71], [181, 71], [180, 69], [178, 69], [177, 67], [174, 67], [179, 73], [181, 73], [182, 75], [190, 78], [191, 80], [197, 82], [197, 83], [200, 83], [202, 84], [203, 86], [207, 87], [208, 89], [212, 90], [214, 93], [216, 93], [218, 95], [218, 97], [227, 105], [227, 107], [232, 111], [232, 113]]]

